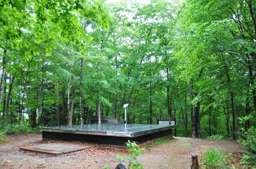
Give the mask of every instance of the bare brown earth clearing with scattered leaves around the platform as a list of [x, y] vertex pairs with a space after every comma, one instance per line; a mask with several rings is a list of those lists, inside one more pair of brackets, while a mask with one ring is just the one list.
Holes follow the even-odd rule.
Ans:
[[[96, 145], [79, 152], [51, 157], [20, 151], [21, 146], [49, 143], [49, 141], [41, 141], [41, 134], [6, 135], [6, 138], [5, 141], [0, 142], [1, 169], [102, 169], [104, 165], [115, 168], [118, 163], [114, 161], [114, 157], [128, 155], [122, 149]], [[184, 146], [181, 143], [192, 145]], [[243, 146], [236, 141], [174, 137], [165, 144], [148, 148], [139, 161], [146, 165], [146, 169], [189, 169], [191, 155], [201, 156], [207, 147], [220, 147], [233, 154], [242, 154], [245, 151]]]

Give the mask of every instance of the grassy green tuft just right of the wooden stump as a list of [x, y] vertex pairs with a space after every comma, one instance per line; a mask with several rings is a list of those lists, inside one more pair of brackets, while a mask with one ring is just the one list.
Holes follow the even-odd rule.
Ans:
[[204, 152], [204, 164], [208, 169], [224, 168], [227, 166], [227, 153], [221, 149], [208, 149]]

